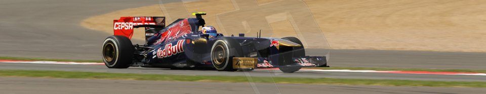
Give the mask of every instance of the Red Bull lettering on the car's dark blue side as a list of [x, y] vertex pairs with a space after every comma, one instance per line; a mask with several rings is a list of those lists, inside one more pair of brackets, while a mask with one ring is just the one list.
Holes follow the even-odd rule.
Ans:
[[176, 55], [177, 53], [184, 52], [184, 48], [182, 47], [182, 44], [184, 43], [185, 40], [179, 40], [177, 41], [177, 44], [172, 46], [172, 43], [167, 44], [163, 50], [161, 48], [158, 48], [157, 50], [157, 57], [158, 58], [164, 58], [164, 57], [169, 57], [172, 55]]

